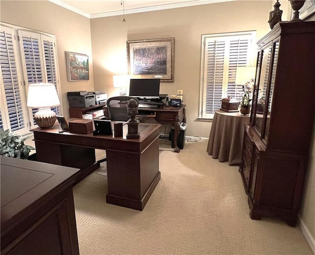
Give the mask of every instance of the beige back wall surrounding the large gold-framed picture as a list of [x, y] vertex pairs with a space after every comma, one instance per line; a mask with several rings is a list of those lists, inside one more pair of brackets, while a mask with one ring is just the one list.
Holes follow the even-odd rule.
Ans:
[[201, 35], [257, 30], [258, 40], [270, 30], [270, 6], [270, 1], [232, 1], [130, 14], [126, 23], [122, 16], [91, 19], [95, 90], [118, 95], [112, 75], [126, 70], [126, 40], [175, 37], [174, 83], [161, 83], [160, 92], [176, 95], [183, 89], [186, 135], [209, 137], [211, 122], [197, 118]]

